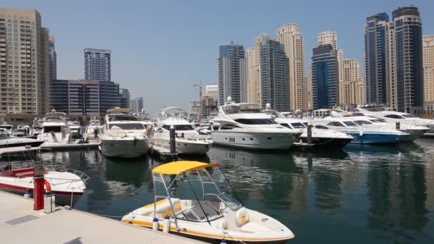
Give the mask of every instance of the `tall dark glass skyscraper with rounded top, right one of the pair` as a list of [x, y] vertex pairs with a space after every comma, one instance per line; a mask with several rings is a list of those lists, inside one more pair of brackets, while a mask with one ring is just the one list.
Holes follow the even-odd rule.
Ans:
[[392, 12], [389, 23], [389, 97], [396, 111], [423, 113], [422, 22], [418, 8], [406, 6]]

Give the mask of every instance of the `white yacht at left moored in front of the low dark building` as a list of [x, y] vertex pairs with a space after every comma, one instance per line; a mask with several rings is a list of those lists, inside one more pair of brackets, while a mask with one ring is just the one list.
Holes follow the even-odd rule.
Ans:
[[69, 128], [66, 113], [52, 110], [43, 118], [42, 131], [37, 136], [38, 140], [45, 141], [44, 145], [69, 143]]

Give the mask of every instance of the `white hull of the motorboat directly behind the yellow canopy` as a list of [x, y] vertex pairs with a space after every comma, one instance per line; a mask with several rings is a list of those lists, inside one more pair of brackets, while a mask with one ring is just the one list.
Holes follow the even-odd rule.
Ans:
[[[169, 138], [153, 137], [149, 139], [149, 143], [170, 149]], [[183, 154], [203, 155], [208, 152], [209, 146], [210, 143], [205, 141], [191, 141], [176, 138], [176, 151]]]

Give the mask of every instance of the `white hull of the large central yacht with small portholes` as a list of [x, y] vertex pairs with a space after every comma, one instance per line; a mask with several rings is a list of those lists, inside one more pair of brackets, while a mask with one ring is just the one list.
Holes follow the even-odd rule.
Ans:
[[293, 133], [213, 131], [213, 143], [236, 148], [287, 150], [296, 141]]

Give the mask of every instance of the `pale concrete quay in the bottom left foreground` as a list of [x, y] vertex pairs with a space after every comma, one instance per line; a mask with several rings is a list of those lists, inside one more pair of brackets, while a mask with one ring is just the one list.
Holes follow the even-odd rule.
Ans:
[[2, 243], [201, 243], [79, 210], [33, 210], [33, 200], [0, 191]]

